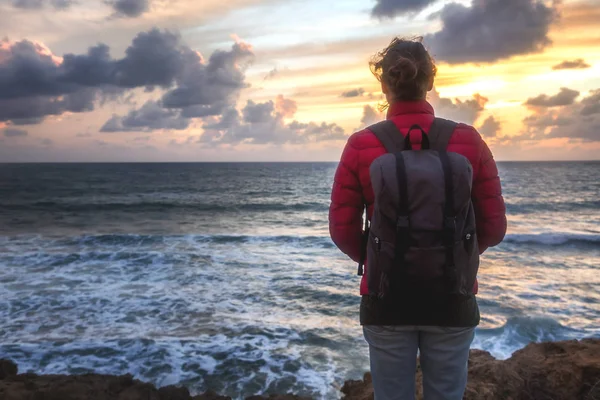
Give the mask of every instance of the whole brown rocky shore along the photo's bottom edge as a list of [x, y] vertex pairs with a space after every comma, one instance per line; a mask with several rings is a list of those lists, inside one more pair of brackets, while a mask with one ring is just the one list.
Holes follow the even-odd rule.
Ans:
[[[417, 371], [421, 395], [421, 372]], [[345, 400], [373, 399], [370, 374], [348, 381]], [[0, 360], [1, 400], [226, 400], [214, 392], [191, 396], [186, 388], [157, 389], [131, 375], [18, 374], [17, 366]], [[251, 396], [247, 400], [301, 400], [292, 395]], [[468, 400], [600, 400], [600, 339], [530, 344], [504, 361], [472, 350]]]

